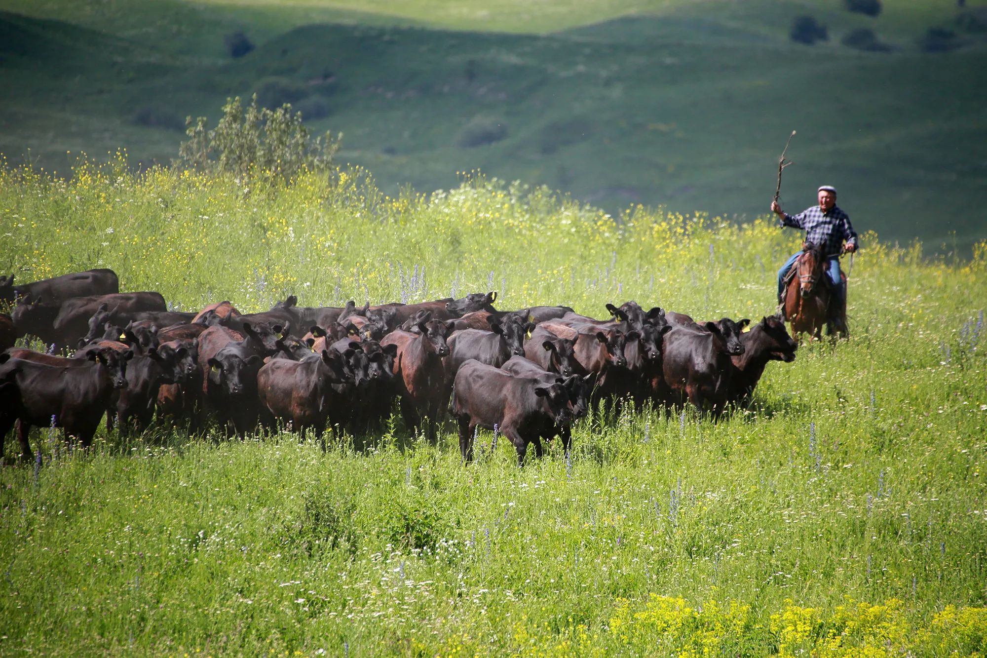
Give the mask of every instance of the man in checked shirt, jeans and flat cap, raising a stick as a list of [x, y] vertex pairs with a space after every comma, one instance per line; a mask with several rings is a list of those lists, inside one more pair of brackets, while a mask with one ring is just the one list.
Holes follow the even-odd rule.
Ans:
[[[826, 258], [825, 271], [832, 289], [832, 299], [827, 310], [827, 321], [832, 328], [845, 334], [845, 309], [847, 303], [846, 283], [840, 277], [840, 254], [845, 250], [853, 253], [858, 249], [857, 232], [850, 224], [847, 213], [836, 206], [836, 188], [824, 185], [819, 188], [819, 205], [805, 208], [796, 215], [782, 210], [778, 202], [772, 202], [771, 210], [782, 221], [782, 227], [792, 226], [805, 231], [804, 242], [817, 245]], [[843, 247], [843, 241], [847, 245]], [[802, 252], [793, 254], [778, 271], [778, 302], [784, 301], [785, 280], [792, 266]]]

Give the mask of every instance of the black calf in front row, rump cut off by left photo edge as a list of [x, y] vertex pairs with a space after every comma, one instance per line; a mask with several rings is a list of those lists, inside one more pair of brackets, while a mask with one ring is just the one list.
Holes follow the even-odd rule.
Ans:
[[[15, 421], [21, 456], [33, 461], [28, 442], [32, 425], [60, 427], [88, 448], [110, 404], [114, 390], [126, 386], [126, 362], [132, 353], [106, 349], [90, 355], [77, 367], [51, 366], [24, 359], [0, 357], [0, 382], [7, 384], [0, 410], [0, 454], [3, 440]], [[3, 362], [6, 363], [3, 363]]]

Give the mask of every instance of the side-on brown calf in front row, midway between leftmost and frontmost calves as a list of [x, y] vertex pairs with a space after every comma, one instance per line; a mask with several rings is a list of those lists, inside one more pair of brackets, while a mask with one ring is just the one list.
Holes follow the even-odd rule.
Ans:
[[336, 394], [334, 385], [345, 379], [343, 357], [335, 351], [323, 350], [302, 361], [274, 359], [257, 374], [257, 391], [262, 417], [267, 424], [277, 419], [291, 423], [300, 432], [312, 428], [322, 437]]

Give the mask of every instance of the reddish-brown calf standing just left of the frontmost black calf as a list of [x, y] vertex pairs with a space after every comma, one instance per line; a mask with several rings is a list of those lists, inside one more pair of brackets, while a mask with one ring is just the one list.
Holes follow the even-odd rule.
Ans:
[[452, 322], [430, 320], [418, 326], [418, 334], [393, 331], [380, 342], [381, 347], [397, 346], [394, 373], [406, 425], [414, 432], [424, 417], [430, 439], [435, 438], [440, 419], [445, 388], [442, 358], [449, 354], [446, 337], [451, 329]]

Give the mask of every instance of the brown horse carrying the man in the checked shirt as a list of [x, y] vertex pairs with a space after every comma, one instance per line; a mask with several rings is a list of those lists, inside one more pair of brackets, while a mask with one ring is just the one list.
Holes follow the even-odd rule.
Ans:
[[[793, 276], [785, 290], [785, 317], [792, 323], [792, 335], [807, 333], [809, 340], [822, 337], [822, 327], [826, 333], [835, 333], [828, 320], [827, 309], [833, 299], [829, 286], [823, 281], [826, 269], [826, 255], [818, 245], [802, 243], [802, 254], [792, 266]], [[839, 332], [846, 336], [846, 310], [840, 309], [842, 327]]]

